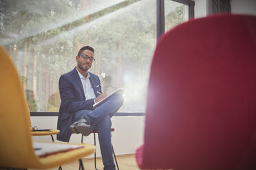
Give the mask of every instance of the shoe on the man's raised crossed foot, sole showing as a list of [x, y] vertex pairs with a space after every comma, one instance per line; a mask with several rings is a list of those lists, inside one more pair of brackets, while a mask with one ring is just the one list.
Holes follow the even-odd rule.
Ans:
[[83, 136], [88, 136], [92, 133], [92, 126], [89, 125], [89, 121], [83, 118], [70, 125], [70, 130], [73, 134], [81, 133]]

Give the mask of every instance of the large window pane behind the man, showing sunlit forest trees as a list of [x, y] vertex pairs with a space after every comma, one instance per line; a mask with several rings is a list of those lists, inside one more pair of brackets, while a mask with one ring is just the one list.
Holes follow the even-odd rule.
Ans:
[[0, 1], [0, 45], [17, 66], [31, 111], [58, 111], [58, 78], [90, 45], [103, 90], [125, 88], [121, 112], [144, 112], [156, 46], [156, 1]]

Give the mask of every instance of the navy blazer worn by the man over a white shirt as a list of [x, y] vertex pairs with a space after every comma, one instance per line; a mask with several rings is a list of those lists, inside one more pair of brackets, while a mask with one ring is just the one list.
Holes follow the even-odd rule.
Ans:
[[[89, 75], [95, 96], [98, 97], [97, 91], [102, 93], [100, 79], [93, 73], [89, 73]], [[57, 129], [61, 132], [57, 134], [57, 139], [58, 141], [67, 142], [70, 141], [72, 134], [69, 127], [74, 122], [74, 113], [78, 110], [94, 110], [92, 107], [94, 99], [85, 100], [83, 85], [76, 67], [72, 71], [61, 75], [58, 81], [58, 89], [61, 95], [61, 106], [58, 112]]]

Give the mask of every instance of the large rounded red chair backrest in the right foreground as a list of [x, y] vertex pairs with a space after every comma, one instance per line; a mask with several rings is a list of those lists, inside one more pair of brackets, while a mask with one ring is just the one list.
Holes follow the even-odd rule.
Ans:
[[143, 169], [256, 167], [256, 16], [171, 29], [151, 64]]

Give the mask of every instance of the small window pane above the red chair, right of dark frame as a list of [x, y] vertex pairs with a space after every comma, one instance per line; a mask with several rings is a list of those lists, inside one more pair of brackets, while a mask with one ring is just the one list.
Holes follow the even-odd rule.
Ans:
[[165, 32], [185, 21], [189, 21], [189, 5], [184, 5], [171, 0], [164, 0]]

